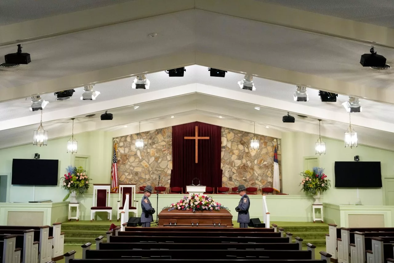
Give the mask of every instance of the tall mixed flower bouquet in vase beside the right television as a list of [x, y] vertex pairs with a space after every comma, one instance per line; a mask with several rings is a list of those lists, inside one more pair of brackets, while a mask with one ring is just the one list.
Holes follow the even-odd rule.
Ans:
[[327, 175], [323, 172], [324, 169], [320, 167], [313, 167], [312, 171], [307, 170], [301, 172], [300, 175], [302, 176], [302, 179], [299, 183], [301, 190], [310, 195], [316, 195], [318, 192], [325, 192], [329, 190], [331, 181], [326, 179]]

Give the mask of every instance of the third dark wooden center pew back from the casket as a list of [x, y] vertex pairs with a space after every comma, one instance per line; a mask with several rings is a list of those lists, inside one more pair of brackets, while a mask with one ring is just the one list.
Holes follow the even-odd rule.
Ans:
[[[174, 242], [188, 243], [193, 240], [195, 243], [288, 243], [288, 237], [157, 237], [157, 236], [110, 236], [109, 242], [117, 243], [137, 243], [137, 242]], [[108, 242], [108, 240], [107, 240]]]

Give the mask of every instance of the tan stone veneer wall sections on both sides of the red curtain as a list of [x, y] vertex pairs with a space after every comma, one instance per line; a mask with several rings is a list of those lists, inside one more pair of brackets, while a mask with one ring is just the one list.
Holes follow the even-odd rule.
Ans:
[[[239, 184], [246, 187], [272, 187], [273, 177], [273, 139], [257, 135], [260, 141], [259, 150], [250, 150], [250, 139], [253, 133], [221, 128], [222, 149], [221, 169], [223, 169], [223, 186], [232, 188]], [[137, 134], [118, 137], [118, 178], [120, 184], [150, 184], [157, 186], [160, 174], [160, 185], [167, 187], [172, 169], [172, 127], [142, 132], [144, 148], [136, 150]], [[280, 140], [278, 140], [279, 174], [281, 175]]]

